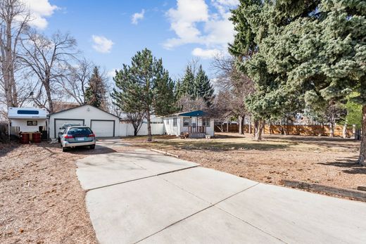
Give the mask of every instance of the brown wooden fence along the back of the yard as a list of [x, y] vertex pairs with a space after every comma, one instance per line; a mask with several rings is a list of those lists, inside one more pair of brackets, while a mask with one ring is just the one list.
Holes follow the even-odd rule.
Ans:
[[[254, 133], [254, 127], [251, 126], [252, 133]], [[232, 132], [239, 133], [239, 124], [215, 124], [215, 132]], [[288, 134], [288, 135], [301, 135], [301, 136], [329, 136], [330, 129], [327, 125], [304, 125], [304, 124], [287, 124], [279, 125], [272, 124], [271, 126], [265, 124], [264, 134]], [[244, 133], [249, 133], [249, 124], [244, 124]], [[343, 125], [336, 125], [334, 127], [334, 136], [343, 136]], [[347, 136], [353, 136], [353, 128], [347, 127]]]

